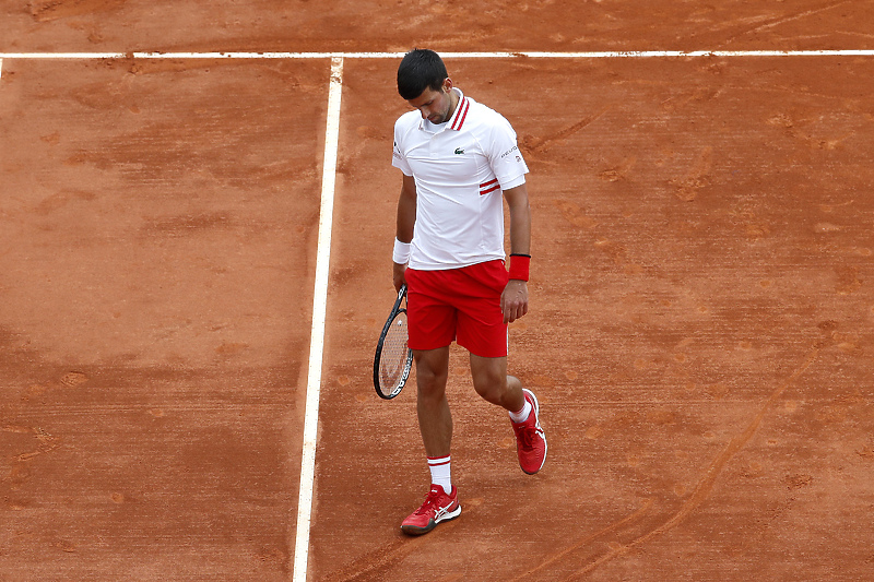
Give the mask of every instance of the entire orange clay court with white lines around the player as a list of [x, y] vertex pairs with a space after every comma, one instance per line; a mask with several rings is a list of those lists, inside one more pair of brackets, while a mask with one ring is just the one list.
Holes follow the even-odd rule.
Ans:
[[[0, 13], [0, 580], [874, 579], [866, 2]], [[371, 366], [414, 46], [531, 169], [550, 453], [453, 346], [462, 514], [409, 538]]]

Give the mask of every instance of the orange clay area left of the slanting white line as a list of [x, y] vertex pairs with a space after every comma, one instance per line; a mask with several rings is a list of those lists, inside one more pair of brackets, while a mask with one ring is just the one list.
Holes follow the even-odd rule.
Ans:
[[3, 64], [0, 578], [275, 579], [323, 67]]

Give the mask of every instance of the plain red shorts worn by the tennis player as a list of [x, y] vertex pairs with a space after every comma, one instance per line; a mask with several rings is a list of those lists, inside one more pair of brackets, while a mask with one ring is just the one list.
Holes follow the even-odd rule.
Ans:
[[506, 356], [500, 295], [508, 281], [500, 260], [446, 271], [408, 269], [410, 349], [436, 349], [457, 340], [476, 356]]

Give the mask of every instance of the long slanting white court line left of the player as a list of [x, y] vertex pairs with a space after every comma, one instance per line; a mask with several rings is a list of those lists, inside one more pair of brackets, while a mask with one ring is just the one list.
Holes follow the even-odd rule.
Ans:
[[319, 430], [324, 321], [328, 304], [328, 266], [331, 258], [331, 225], [334, 214], [336, 151], [340, 139], [340, 99], [343, 88], [343, 59], [331, 59], [331, 84], [328, 91], [328, 123], [324, 130], [324, 161], [321, 173], [319, 246], [316, 256], [316, 286], [312, 294], [312, 329], [309, 341], [304, 450], [300, 460], [300, 490], [297, 497], [297, 525], [294, 544], [294, 582], [306, 582], [309, 554], [309, 525], [312, 513], [312, 487], [316, 477], [316, 439]]

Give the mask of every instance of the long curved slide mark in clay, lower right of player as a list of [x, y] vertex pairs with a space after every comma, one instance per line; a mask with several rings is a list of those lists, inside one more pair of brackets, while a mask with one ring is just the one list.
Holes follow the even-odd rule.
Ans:
[[695, 490], [689, 496], [689, 498], [681, 506], [680, 510], [674, 513], [666, 522], [662, 525], [656, 527], [654, 530], [633, 539], [630, 543], [625, 545], [614, 545], [611, 547], [610, 551], [600, 556], [595, 560], [588, 563], [581, 570], [575, 572], [571, 577], [567, 578], [566, 580], [574, 580], [578, 579], [600, 567], [603, 563], [611, 561], [612, 559], [623, 556], [630, 551], [633, 548], [646, 544], [650, 539], [660, 536], [670, 530], [680, 525], [688, 515], [695, 511], [709, 496], [711, 490], [713, 489], [713, 485], [722, 473], [722, 470], [725, 467], [729, 461], [736, 455], [741, 449], [743, 449], [746, 443], [753, 438], [753, 436], [758, 430], [758, 427], [761, 425], [761, 421], [765, 418], [765, 415], [768, 411], [773, 406], [777, 400], [786, 392], [786, 390], [792, 385], [799, 377], [804, 373], [807, 368], [816, 360], [816, 357], [819, 355], [818, 348], [813, 348], [807, 357], [804, 359], [804, 363], [793, 371], [789, 378], [783, 381], [777, 389], [771, 393], [767, 401], [761, 405], [756, 416], [749, 423], [749, 425], [737, 436], [732, 438], [725, 449], [710, 463], [710, 466], [707, 467], [705, 472], [705, 476], [698, 482], [696, 485]]

